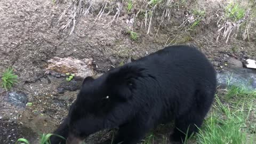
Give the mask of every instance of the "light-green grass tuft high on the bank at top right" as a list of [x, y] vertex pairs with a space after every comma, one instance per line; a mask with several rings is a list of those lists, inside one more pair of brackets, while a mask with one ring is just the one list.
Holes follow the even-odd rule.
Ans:
[[245, 16], [245, 9], [239, 4], [230, 3], [227, 5], [225, 9], [225, 14], [227, 18], [233, 19], [233, 21], [238, 21], [244, 18]]

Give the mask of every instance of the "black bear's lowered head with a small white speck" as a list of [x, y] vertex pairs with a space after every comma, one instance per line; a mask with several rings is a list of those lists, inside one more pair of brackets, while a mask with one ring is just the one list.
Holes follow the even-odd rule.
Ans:
[[[99, 78], [86, 77], [69, 111], [67, 144], [82, 143], [90, 134], [116, 125], [106, 123], [113, 109], [130, 101], [142, 68], [123, 66], [109, 70]], [[125, 115], [125, 114], [122, 114]]]

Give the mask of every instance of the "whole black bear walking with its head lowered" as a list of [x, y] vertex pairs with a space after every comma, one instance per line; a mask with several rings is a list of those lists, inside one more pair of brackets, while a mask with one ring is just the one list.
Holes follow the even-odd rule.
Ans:
[[86, 77], [69, 114], [53, 133], [51, 143], [77, 144], [102, 129], [119, 127], [114, 143], [135, 144], [158, 124], [174, 120], [170, 135], [181, 143], [197, 132], [216, 91], [216, 73], [194, 47], [169, 46], [113, 68], [93, 79]]

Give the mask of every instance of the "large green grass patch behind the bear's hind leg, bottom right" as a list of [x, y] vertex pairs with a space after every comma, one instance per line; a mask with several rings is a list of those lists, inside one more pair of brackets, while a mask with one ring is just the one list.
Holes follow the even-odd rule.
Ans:
[[[197, 134], [199, 144], [252, 144], [250, 129], [255, 130], [255, 123], [250, 116], [255, 116], [253, 103], [256, 92], [245, 88], [230, 86], [227, 94], [217, 95], [213, 111]], [[255, 131], [254, 131], [255, 132]]]

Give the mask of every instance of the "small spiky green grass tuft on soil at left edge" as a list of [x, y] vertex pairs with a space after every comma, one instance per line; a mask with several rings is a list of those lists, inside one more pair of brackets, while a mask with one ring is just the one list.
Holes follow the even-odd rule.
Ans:
[[12, 86], [18, 82], [18, 76], [13, 74], [13, 68], [6, 69], [1, 79], [2, 87], [4, 87], [6, 91], [10, 90]]

